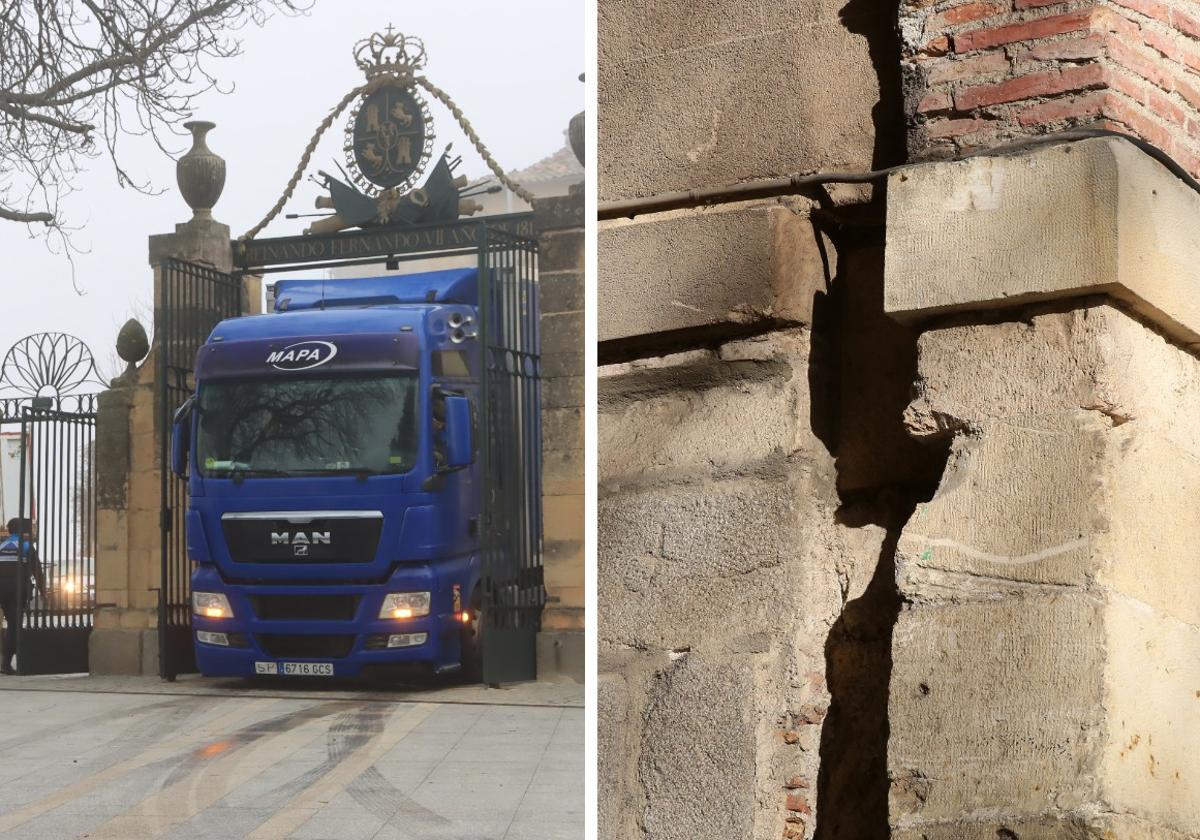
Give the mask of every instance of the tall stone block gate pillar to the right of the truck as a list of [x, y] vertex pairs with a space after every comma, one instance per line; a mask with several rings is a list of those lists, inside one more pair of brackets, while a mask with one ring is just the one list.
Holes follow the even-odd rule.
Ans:
[[538, 677], [583, 680], [583, 190], [535, 199], [547, 604]]

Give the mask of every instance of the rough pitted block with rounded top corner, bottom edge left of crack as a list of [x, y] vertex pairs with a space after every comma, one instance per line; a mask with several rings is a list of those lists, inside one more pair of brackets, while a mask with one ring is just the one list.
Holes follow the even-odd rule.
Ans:
[[689, 654], [658, 674], [644, 710], [642, 824], [655, 840], [749, 840], [756, 809], [755, 678], [746, 658]]

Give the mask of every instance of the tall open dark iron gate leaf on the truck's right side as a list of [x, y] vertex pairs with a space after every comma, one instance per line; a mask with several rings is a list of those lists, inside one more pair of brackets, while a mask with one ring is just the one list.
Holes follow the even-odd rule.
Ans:
[[541, 358], [535, 240], [480, 224], [484, 682], [536, 677]]

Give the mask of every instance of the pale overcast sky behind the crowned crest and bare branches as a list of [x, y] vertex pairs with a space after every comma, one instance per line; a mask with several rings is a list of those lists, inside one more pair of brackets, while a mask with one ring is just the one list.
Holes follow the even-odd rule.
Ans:
[[[582, 0], [316, 0], [304, 17], [274, 17], [245, 32], [244, 55], [209, 65], [232, 94], [198, 101], [197, 119], [217, 124], [209, 146], [226, 158], [226, 188], [214, 216], [233, 235], [245, 233], [277, 200], [300, 154], [325, 114], [364, 77], [354, 43], [389, 23], [425, 40], [425, 74], [449, 92], [505, 169], [516, 169], [562, 148], [570, 118], [583, 109]], [[426, 98], [431, 98], [426, 96]], [[434, 160], [445, 144], [463, 156], [458, 174], [486, 167], [437, 102]], [[346, 115], [326, 132], [311, 170], [341, 161]], [[190, 146], [179, 138], [178, 152]], [[146, 236], [170, 233], [191, 212], [175, 187], [174, 161], [156, 146], [131, 142], [122, 161], [132, 173], [166, 187], [148, 197], [120, 188], [106, 158], [89, 164], [61, 208], [78, 247], [76, 282], [66, 259], [29, 239], [23, 226], [0, 222], [4, 254], [4, 318], [0, 353], [32, 332], [62, 331], [84, 340], [102, 372], [113, 371], [116, 331], [133, 313], [150, 317], [151, 274]], [[301, 181], [284, 212], [310, 212], [318, 188]], [[306, 220], [281, 216], [260, 236], [301, 232]], [[146, 324], [148, 330], [150, 325]]]

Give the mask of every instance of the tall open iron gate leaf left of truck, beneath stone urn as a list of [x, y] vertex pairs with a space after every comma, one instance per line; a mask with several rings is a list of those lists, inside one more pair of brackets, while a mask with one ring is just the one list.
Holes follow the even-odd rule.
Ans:
[[196, 353], [212, 328], [241, 314], [241, 277], [206, 265], [168, 259], [162, 266], [162, 300], [157, 336], [158, 408], [163, 430], [158, 467], [162, 473], [162, 568], [158, 589], [158, 673], [172, 680], [196, 671], [192, 647], [192, 569], [184, 520], [187, 481], [170, 470], [170, 428], [175, 409], [196, 389]]

